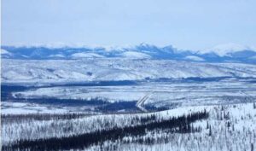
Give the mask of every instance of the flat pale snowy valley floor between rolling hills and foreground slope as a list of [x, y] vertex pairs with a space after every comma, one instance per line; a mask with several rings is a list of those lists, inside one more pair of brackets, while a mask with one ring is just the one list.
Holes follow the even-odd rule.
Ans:
[[[252, 79], [227, 78], [208, 82], [183, 80], [112, 86], [49, 86], [15, 91], [11, 94], [14, 100], [34, 99], [33, 103], [37, 103], [38, 98], [45, 100], [47, 98], [72, 99], [81, 100], [81, 102], [90, 102], [94, 99], [101, 99], [106, 102], [137, 102], [147, 95], [150, 96], [143, 102], [143, 106], [148, 107], [175, 108], [254, 102], [256, 99], [256, 84]], [[72, 103], [72, 101], [70, 102]], [[55, 105], [54, 102], [51, 104], [52, 106]], [[19, 107], [15, 108], [19, 109]], [[65, 108], [73, 111], [73, 107], [67, 106]], [[76, 107], [77, 110], [81, 110], [81, 108], [85, 109], [86, 105], [80, 106], [79, 104]], [[91, 109], [90, 112], [94, 111], [93, 107], [87, 108]], [[2, 110], [5, 113], [9, 111], [9, 107]]]

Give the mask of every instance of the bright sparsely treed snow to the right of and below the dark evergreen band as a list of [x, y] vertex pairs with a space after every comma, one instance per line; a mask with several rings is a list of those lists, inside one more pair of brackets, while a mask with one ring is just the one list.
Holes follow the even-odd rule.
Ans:
[[[117, 142], [93, 145], [88, 150], [105, 148], [125, 151], [253, 151], [256, 146], [256, 104], [236, 104], [227, 106], [185, 107], [161, 112], [160, 115], [178, 116], [206, 109], [210, 117], [195, 122], [193, 127], [201, 127], [201, 132], [170, 133], [148, 131], [144, 136], [126, 136]], [[148, 140], [149, 143], [147, 143]], [[154, 141], [152, 141], [154, 140]]]

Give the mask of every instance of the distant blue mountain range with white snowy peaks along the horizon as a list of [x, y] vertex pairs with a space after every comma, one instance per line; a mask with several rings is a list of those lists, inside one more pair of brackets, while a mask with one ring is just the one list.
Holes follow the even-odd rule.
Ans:
[[49, 47], [2, 46], [2, 58], [9, 59], [81, 59], [81, 58], [132, 58], [167, 59], [177, 61], [243, 62], [256, 63], [256, 49], [238, 44], [224, 44], [207, 50], [176, 49], [172, 45], [158, 47], [139, 44], [129, 47]]

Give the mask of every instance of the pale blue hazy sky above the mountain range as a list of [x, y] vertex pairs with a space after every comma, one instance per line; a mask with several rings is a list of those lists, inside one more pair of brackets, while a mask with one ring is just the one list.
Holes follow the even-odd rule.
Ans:
[[255, 45], [255, 0], [2, 0], [2, 44]]

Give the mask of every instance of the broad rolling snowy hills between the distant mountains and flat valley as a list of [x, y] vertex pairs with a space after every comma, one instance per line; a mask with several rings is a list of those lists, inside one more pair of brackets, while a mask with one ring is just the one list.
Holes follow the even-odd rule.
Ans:
[[2, 60], [3, 83], [56, 83], [145, 78], [256, 77], [256, 66], [148, 59]]

